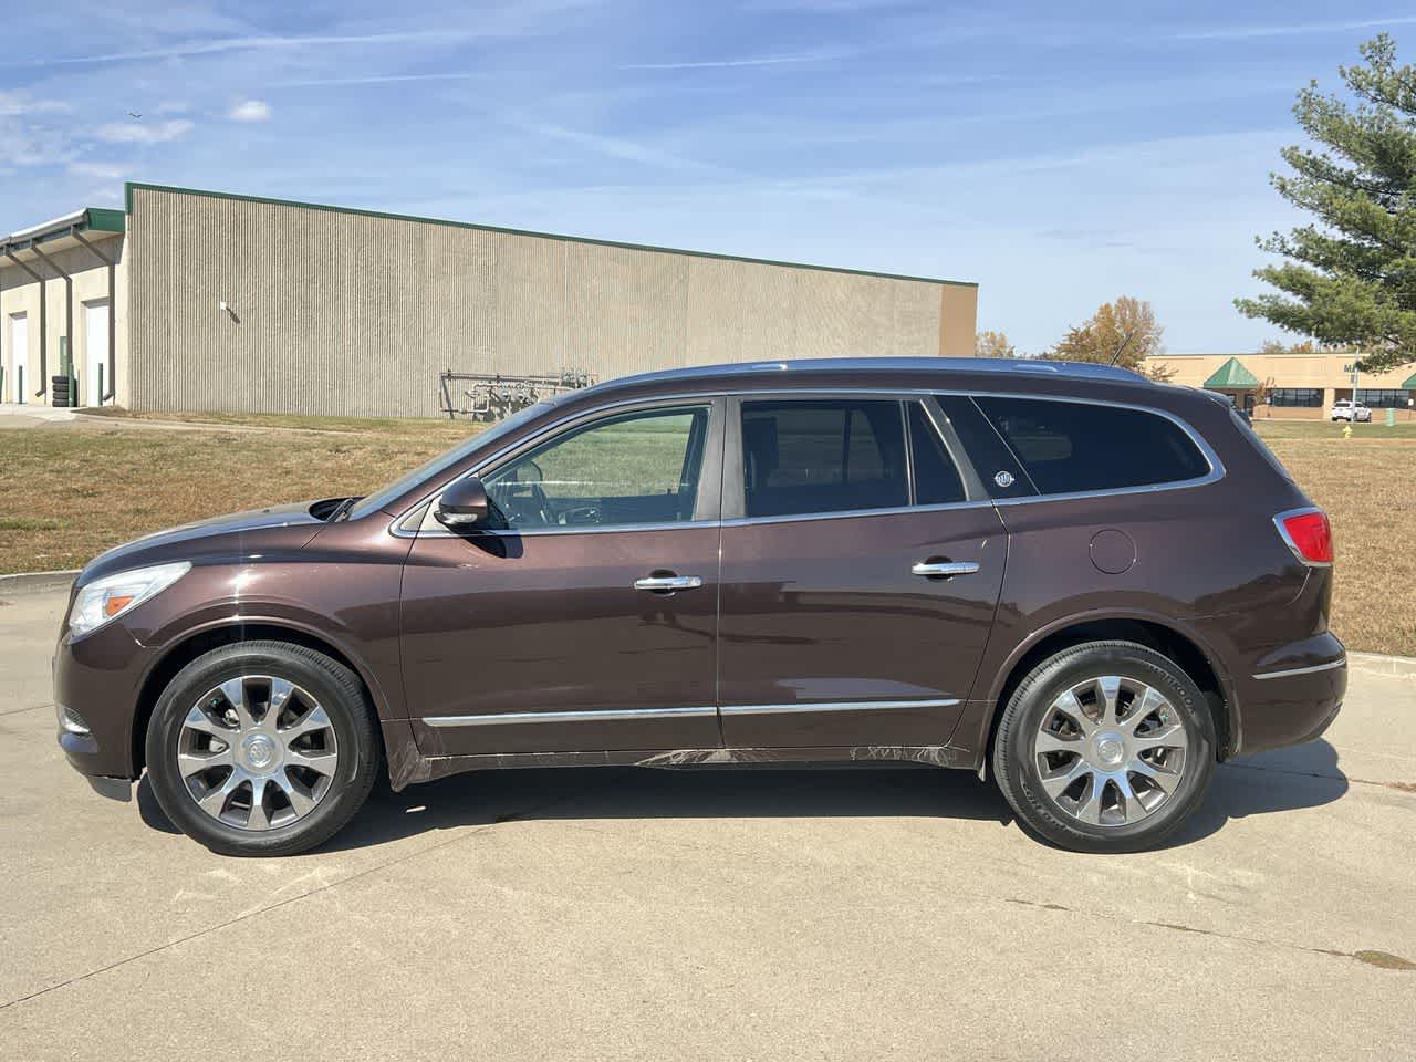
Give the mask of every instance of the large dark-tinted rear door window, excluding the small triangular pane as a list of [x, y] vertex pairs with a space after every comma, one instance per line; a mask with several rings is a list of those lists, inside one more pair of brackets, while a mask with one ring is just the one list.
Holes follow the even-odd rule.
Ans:
[[742, 404], [743, 513], [779, 517], [909, 504], [901, 404]]

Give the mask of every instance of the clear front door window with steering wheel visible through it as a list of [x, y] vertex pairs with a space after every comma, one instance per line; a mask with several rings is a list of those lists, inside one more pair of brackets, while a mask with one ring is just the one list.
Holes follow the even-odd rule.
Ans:
[[561, 432], [484, 477], [511, 530], [694, 518], [711, 406], [620, 413]]

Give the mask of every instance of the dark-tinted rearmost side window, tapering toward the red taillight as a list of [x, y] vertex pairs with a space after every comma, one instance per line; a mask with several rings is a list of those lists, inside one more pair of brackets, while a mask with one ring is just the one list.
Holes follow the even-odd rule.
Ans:
[[1034, 398], [974, 402], [1041, 494], [1182, 483], [1209, 473], [1195, 440], [1157, 413]]

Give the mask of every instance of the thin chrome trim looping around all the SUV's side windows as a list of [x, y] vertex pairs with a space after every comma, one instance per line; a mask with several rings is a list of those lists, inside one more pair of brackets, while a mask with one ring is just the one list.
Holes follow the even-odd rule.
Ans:
[[[664, 404], [673, 405], [673, 404], [694, 402], [694, 401], [711, 401], [711, 399], [718, 399], [718, 398], [780, 398], [780, 396], [786, 396], [786, 398], [794, 398], [794, 396], [810, 398], [810, 396], [814, 396], [814, 395], [879, 395], [879, 396], [886, 396], [886, 398], [920, 398], [920, 396], [927, 398], [930, 395], [959, 395], [959, 396], [963, 396], [963, 398], [976, 398], [976, 396], [977, 398], [1018, 398], [1018, 399], [1029, 399], [1029, 401], [1037, 401], [1037, 402], [1072, 402], [1072, 404], [1082, 404], [1082, 405], [1099, 405], [1099, 406], [1107, 406], [1107, 408], [1136, 409], [1136, 411], [1140, 411], [1140, 412], [1144, 412], [1144, 413], [1153, 413], [1155, 416], [1161, 416], [1161, 418], [1170, 421], [1171, 423], [1174, 423], [1177, 428], [1180, 428], [1189, 438], [1191, 442], [1195, 443], [1197, 447], [1199, 447], [1201, 455], [1205, 457], [1205, 460], [1209, 464], [1209, 473], [1208, 474], [1199, 476], [1197, 479], [1189, 479], [1189, 480], [1175, 480], [1172, 483], [1150, 483], [1150, 484], [1140, 486], [1140, 487], [1112, 487], [1112, 489], [1106, 489], [1106, 490], [1079, 490], [1079, 491], [1069, 491], [1066, 494], [1034, 494], [1031, 497], [1020, 497], [1020, 498], [988, 498], [987, 503], [966, 501], [966, 503], [956, 503], [956, 504], [952, 504], [952, 506], [939, 506], [937, 508], [959, 508], [960, 506], [974, 506], [974, 504], [991, 504], [991, 506], [995, 506], [995, 507], [1003, 507], [1003, 506], [1028, 506], [1028, 504], [1038, 504], [1038, 503], [1048, 503], [1048, 501], [1078, 501], [1078, 500], [1086, 500], [1086, 498], [1103, 498], [1103, 497], [1113, 497], [1113, 496], [1114, 497], [1120, 497], [1120, 496], [1126, 496], [1126, 494], [1150, 494], [1150, 493], [1157, 493], [1157, 491], [1164, 491], [1164, 490], [1191, 490], [1194, 487], [1205, 487], [1205, 486], [1209, 486], [1212, 483], [1218, 483], [1219, 480], [1222, 480], [1225, 477], [1223, 462], [1219, 460], [1219, 455], [1215, 453], [1214, 447], [1205, 440], [1205, 438], [1202, 435], [1199, 435], [1199, 432], [1197, 432], [1194, 428], [1191, 428], [1191, 425], [1187, 421], [1184, 421], [1182, 418], [1177, 416], [1175, 413], [1171, 413], [1167, 409], [1158, 409], [1155, 406], [1146, 405], [1146, 404], [1141, 404], [1141, 402], [1113, 402], [1113, 401], [1106, 401], [1106, 399], [1099, 399], [1099, 398], [1079, 398], [1079, 396], [1075, 396], [1075, 395], [1037, 395], [1037, 394], [1029, 394], [1027, 391], [998, 391], [998, 389], [991, 389], [991, 388], [986, 389], [986, 391], [974, 391], [974, 389], [957, 388], [957, 387], [939, 387], [939, 388], [919, 388], [919, 387], [916, 387], [916, 388], [898, 388], [898, 387], [895, 387], [895, 388], [884, 388], [884, 387], [874, 387], [874, 388], [872, 387], [858, 387], [858, 388], [855, 388], [855, 387], [831, 387], [831, 388], [796, 387], [796, 388], [760, 388], [760, 389], [759, 388], [741, 389], [741, 388], [736, 388], [736, 387], [726, 387], [726, 388], [714, 388], [711, 391], [691, 391], [691, 392], [673, 394], [673, 395], [656, 395], [656, 396], [651, 396], [651, 398], [643, 398], [643, 396], [641, 398], [624, 398], [624, 399], [620, 399], [620, 401], [616, 401], [616, 402], [607, 402], [605, 405], [598, 405], [593, 409], [582, 409], [582, 411], [579, 411], [576, 413], [571, 413], [568, 416], [564, 416], [559, 421], [552, 421], [551, 423], [545, 425], [545, 428], [542, 428], [535, 435], [532, 435], [530, 438], [523, 438], [518, 442], [510, 443], [510, 445], [501, 447], [500, 450], [496, 450], [496, 452], [490, 453], [487, 457], [484, 457], [476, 466], [473, 466], [472, 469], [469, 469], [467, 472], [464, 472], [463, 476], [477, 476], [484, 469], [487, 469], [489, 466], [491, 466], [496, 462], [501, 460], [504, 456], [508, 456], [508, 455], [511, 455], [515, 450], [520, 450], [523, 447], [532, 446], [532, 445], [537, 443], [537, 440], [542, 439], [544, 436], [549, 435], [551, 432], [555, 432], [555, 430], [559, 430], [559, 429], [565, 428], [566, 425], [575, 423], [576, 421], [582, 421], [582, 419], [586, 419], [586, 418], [600, 416], [603, 413], [607, 413], [607, 412], [612, 412], [612, 411], [620, 409], [620, 408], [636, 406], [636, 405], [639, 405], [639, 406], [657, 406], [657, 405], [664, 405]], [[926, 404], [926, 409], [929, 406]], [[936, 428], [937, 426], [939, 425], [936, 422]], [[970, 467], [971, 467], [971, 463], [970, 463]], [[457, 479], [462, 479], [462, 476], [459, 476]], [[449, 483], [456, 483], [456, 481], [457, 480], [450, 480]], [[446, 487], [443, 487], [443, 489], [446, 489]], [[416, 508], [419, 508], [423, 504], [428, 504], [429, 501], [433, 501], [442, 493], [443, 489], [433, 490], [433, 491], [429, 491], [428, 494], [423, 494], [422, 497], [418, 498], [418, 501], [415, 501], [412, 506], [409, 506], [402, 513], [399, 513], [389, 523], [389, 527], [388, 527], [389, 534], [392, 534], [392, 535], [395, 535], [398, 538], [416, 538], [418, 535], [456, 538], [457, 535], [455, 535], [455, 534], [452, 534], [449, 531], [439, 531], [439, 530], [428, 528], [428, 530], [418, 530], [418, 531], [409, 532], [409, 531], [401, 531], [399, 527], [398, 527]], [[936, 508], [936, 507], [910, 507], [910, 508], [905, 508], [905, 510], [899, 510], [899, 508], [895, 508], [895, 510], [872, 508], [872, 510], [861, 510], [861, 511], [857, 511], [857, 513], [809, 513], [809, 514], [800, 514], [800, 515], [786, 517], [786, 520], [831, 520], [831, 518], [854, 517], [854, 515], [896, 514], [896, 513], [902, 513], [902, 511], [903, 513], [918, 513], [918, 511], [929, 511], [929, 508]], [[432, 513], [432, 508], [429, 507], [429, 514], [430, 513]], [[691, 523], [708, 523], [708, 524], [721, 524], [721, 525], [733, 525], [733, 527], [736, 527], [736, 525], [741, 525], [741, 524], [755, 524], [755, 523], [763, 523], [763, 521], [782, 523], [782, 520], [783, 520], [783, 517], [756, 517], [756, 518], [750, 518], [750, 517], [733, 517], [733, 518], [722, 520], [722, 521], [684, 521], [684, 523], [678, 523], [678, 524], [668, 524], [667, 527], [688, 527]], [[646, 524], [624, 524], [624, 525], [605, 527], [605, 528], [595, 528], [595, 530], [598, 530], [598, 531], [633, 531], [636, 528], [646, 530], [647, 527], [649, 525], [646, 525]], [[585, 531], [589, 531], [589, 530], [590, 528], [538, 528], [537, 531], [539, 534], [547, 534], [547, 532], [549, 532], [549, 534], [566, 534], [568, 531], [569, 532], [585, 532]], [[517, 534], [530, 534], [530, 532], [528, 531], [521, 531], [521, 532], [517, 532]]]

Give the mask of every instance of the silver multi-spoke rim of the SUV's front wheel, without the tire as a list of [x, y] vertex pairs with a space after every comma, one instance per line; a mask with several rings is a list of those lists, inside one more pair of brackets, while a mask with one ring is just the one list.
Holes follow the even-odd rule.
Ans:
[[242, 675], [193, 705], [177, 736], [177, 770], [212, 818], [275, 830], [303, 818], [334, 782], [334, 724], [283, 678]]

